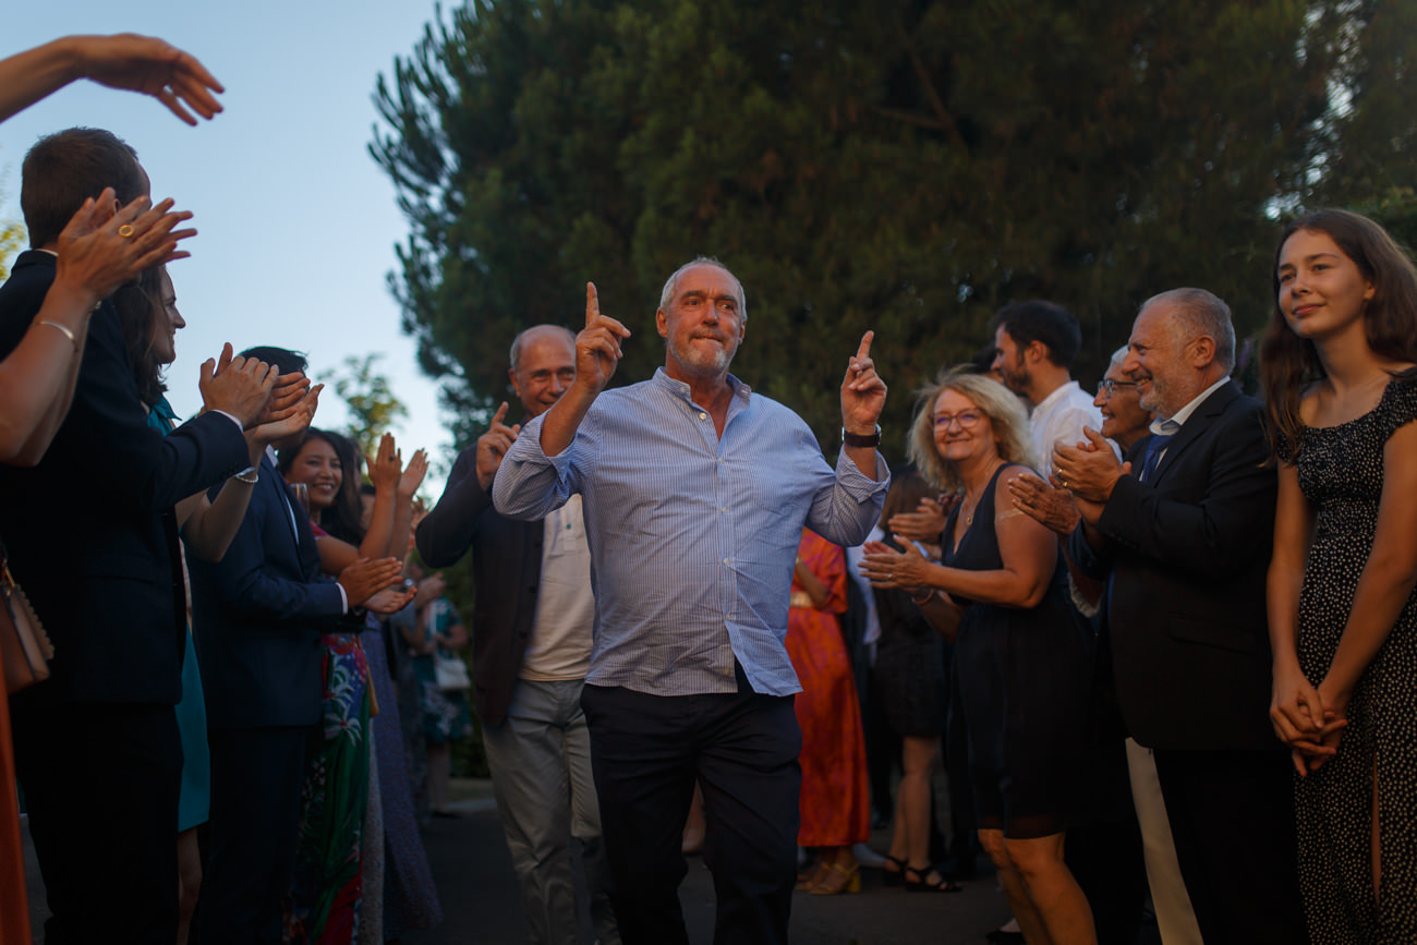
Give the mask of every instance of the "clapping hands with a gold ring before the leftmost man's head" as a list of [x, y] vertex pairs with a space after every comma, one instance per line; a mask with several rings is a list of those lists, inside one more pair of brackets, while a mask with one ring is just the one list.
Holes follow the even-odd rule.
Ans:
[[177, 244], [197, 235], [196, 230], [173, 230], [191, 214], [173, 211], [171, 200], [153, 207], [147, 197], [139, 197], [116, 211], [113, 200], [112, 187], [103, 188], [98, 200], [85, 200], [55, 245], [55, 285], [72, 286], [94, 303], [143, 269], [186, 258], [188, 254], [177, 252]]

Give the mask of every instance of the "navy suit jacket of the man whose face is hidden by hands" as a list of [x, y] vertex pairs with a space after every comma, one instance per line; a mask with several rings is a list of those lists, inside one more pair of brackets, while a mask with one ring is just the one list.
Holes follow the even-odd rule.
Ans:
[[343, 612], [339, 587], [320, 575], [310, 521], [269, 458], [258, 476], [225, 557], [187, 555], [211, 728], [319, 721], [320, 635], [337, 629]]

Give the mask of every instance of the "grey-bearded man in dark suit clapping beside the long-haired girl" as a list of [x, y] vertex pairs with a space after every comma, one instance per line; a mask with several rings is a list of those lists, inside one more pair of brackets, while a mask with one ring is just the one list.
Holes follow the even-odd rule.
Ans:
[[1202, 935], [1301, 942], [1292, 775], [1268, 720], [1277, 479], [1233, 366], [1224, 302], [1203, 289], [1149, 299], [1122, 364], [1156, 415], [1139, 465], [1128, 475], [1110, 449], [1060, 446], [1054, 475], [1083, 511], [1074, 561], [1110, 577], [1118, 704], [1155, 751]]

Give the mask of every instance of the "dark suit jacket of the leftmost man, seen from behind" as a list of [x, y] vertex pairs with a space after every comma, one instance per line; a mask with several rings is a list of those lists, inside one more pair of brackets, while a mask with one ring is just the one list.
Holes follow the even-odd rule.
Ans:
[[[52, 281], [52, 255], [16, 261], [0, 286], [0, 356], [24, 337]], [[247, 462], [245, 438], [220, 414], [169, 436], [147, 425], [118, 312], [105, 302], [44, 459], [0, 465], [0, 536], [54, 640], [50, 681], [17, 707], [177, 701], [187, 621], [171, 507]]]

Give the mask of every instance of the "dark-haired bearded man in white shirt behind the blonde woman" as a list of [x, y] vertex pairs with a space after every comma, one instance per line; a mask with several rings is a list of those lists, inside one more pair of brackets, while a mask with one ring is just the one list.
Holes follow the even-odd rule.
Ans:
[[1073, 380], [1073, 358], [1083, 333], [1071, 312], [1043, 300], [1016, 302], [993, 316], [998, 371], [1010, 391], [1027, 398], [1032, 412], [1033, 452], [1046, 469], [1053, 446], [1085, 442], [1084, 426], [1101, 429], [1102, 414]]

